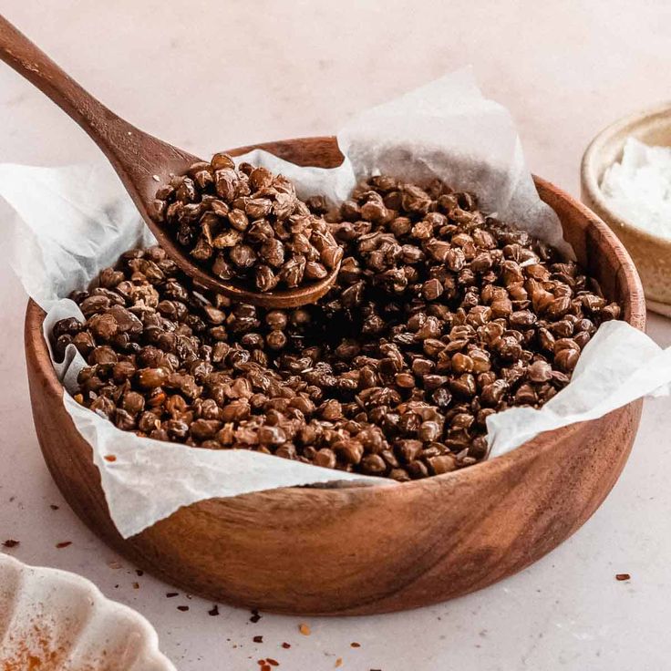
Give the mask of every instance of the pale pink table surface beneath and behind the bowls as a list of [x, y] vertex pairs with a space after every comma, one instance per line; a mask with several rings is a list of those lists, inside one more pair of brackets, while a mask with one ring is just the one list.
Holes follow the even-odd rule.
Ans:
[[[667, 0], [0, 0], [0, 12], [110, 108], [201, 155], [331, 134], [356, 110], [472, 64], [485, 93], [511, 109], [532, 170], [577, 194], [589, 139], [671, 98]], [[71, 121], [0, 67], [0, 161], [95, 157]], [[646, 403], [633, 455], [603, 507], [532, 568], [410, 613], [310, 618], [305, 637], [302, 618], [263, 614], [254, 625], [225, 606], [212, 617], [212, 604], [168, 599], [169, 585], [128, 563], [108, 565], [119, 557], [69, 511], [39, 453], [22, 345], [26, 296], [4, 255], [0, 262], [0, 542], [20, 540], [9, 551], [17, 558], [81, 573], [145, 614], [181, 671], [258, 669], [267, 656], [298, 671], [334, 668], [337, 657], [356, 671], [669, 667], [668, 401]], [[665, 319], [649, 315], [648, 331], [671, 344]], [[57, 550], [62, 541], [72, 545]], [[632, 579], [616, 582], [615, 573]]]

